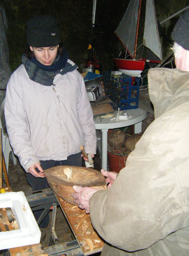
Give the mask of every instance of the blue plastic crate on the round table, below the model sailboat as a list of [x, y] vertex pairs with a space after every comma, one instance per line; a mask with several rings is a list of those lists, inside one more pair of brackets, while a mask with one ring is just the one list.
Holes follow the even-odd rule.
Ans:
[[120, 110], [138, 108], [139, 99], [139, 77], [125, 75], [111, 75], [111, 72], [104, 73], [104, 84], [106, 95], [114, 102], [116, 109]]

